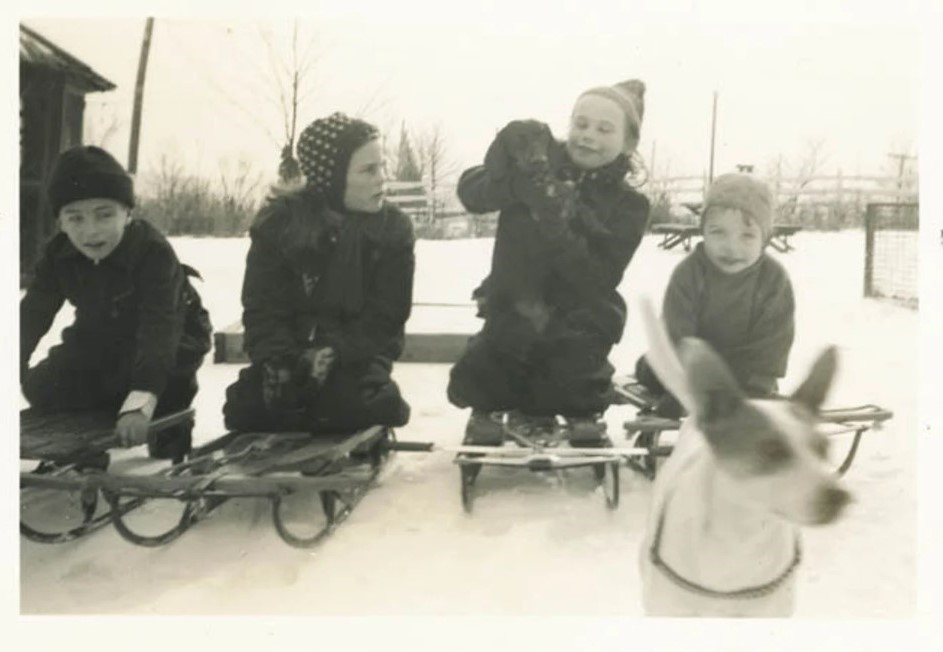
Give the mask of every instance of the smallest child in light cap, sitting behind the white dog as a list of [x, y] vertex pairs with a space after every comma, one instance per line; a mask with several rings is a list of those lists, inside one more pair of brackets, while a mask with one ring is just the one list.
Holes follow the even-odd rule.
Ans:
[[[795, 335], [789, 275], [765, 252], [772, 214], [766, 184], [747, 174], [718, 177], [701, 211], [703, 241], [675, 268], [662, 307], [674, 342], [707, 341], [754, 397], [777, 392]], [[663, 391], [644, 357], [636, 376]], [[658, 411], [678, 416], [680, 407], [668, 397]]]

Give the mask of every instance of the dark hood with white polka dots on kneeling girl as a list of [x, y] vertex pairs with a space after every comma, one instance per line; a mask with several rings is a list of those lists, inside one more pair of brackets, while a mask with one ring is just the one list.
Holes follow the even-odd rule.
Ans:
[[305, 127], [298, 137], [298, 162], [308, 187], [340, 205], [350, 157], [379, 135], [373, 125], [339, 111]]

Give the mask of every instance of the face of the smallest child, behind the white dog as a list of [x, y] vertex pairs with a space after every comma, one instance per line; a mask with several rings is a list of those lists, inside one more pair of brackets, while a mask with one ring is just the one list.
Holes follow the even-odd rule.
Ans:
[[704, 216], [704, 250], [722, 272], [736, 274], [763, 253], [763, 232], [736, 208], [712, 208]]

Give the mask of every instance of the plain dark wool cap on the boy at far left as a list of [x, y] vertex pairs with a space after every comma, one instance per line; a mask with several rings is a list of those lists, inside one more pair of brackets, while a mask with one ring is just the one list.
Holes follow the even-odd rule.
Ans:
[[134, 182], [121, 164], [100, 147], [80, 145], [59, 155], [47, 189], [53, 215], [80, 199], [114, 199], [134, 207]]

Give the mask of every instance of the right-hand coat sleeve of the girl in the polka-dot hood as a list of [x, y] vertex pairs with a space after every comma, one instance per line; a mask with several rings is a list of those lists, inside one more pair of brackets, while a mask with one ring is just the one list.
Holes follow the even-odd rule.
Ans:
[[330, 328], [326, 336], [342, 365], [378, 355], [395, 360], [403, 352], [405, 324], [413, 303], [415, 239], [409, 217], [399, 210], [388, 210], [376, 264], [365, 279], [363, 312], [346, 320], [342, 328]]

